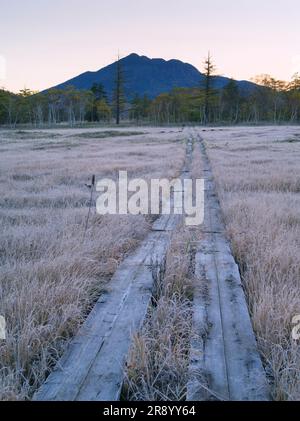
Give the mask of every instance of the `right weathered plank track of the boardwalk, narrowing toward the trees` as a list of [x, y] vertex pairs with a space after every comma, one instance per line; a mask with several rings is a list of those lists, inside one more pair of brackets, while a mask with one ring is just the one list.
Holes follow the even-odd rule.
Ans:
[[195, 257], [194, 330], [188, 400], [268, 400], [265, 372], [238, 267], [225, 237], [210, 163], [205, 178], [204, 240]]

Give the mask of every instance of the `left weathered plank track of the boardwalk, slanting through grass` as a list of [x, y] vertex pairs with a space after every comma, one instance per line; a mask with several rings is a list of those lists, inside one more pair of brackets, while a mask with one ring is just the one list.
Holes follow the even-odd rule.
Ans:
[[[192, 148], [186, 148], [186, 167]], [[135, 253], [117, 269], [86, 322], [34, 400], [118, 400], [132, 333], [144, 320], [153, 288], [153, 265], [163, 265], [181, 215], [162, 215]]]

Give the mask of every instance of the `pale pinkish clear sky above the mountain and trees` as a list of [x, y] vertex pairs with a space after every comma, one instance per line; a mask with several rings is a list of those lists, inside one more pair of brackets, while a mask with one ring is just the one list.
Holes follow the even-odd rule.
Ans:
[[250, 79], [300, 72], [298, 0], [0, 0], [0, 87], [43, 90], [136, 52]]

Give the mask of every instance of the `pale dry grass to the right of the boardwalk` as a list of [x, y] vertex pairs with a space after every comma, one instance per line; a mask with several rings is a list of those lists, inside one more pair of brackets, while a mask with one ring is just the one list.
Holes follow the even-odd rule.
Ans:
[[[299, 127], [199, 133], [206, 141], [221, 205], [246, 289], [275, 400], [300, 400]], [[293, 141], [291, 141], [293, 139]]]

